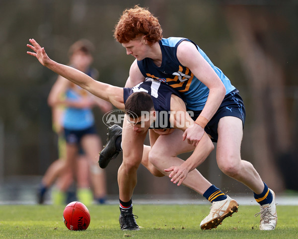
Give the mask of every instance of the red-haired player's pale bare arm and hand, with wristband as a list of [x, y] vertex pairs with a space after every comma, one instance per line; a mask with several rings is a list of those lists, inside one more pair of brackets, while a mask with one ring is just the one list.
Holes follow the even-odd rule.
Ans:
[[[189, 41], [181, 42], [177, 48], [177, 58], [183, 66], [188, 67], [209, 88], [207, 102], [200, 114], [209, 121], [224, 99], [225, 87], [223, 82], [193, 43]], [[187, 139], [188, 143], [196, 145], [203, 136], [203, 130], [201, 126], [195, 124], [194, 127], [185, 131], [183, 140]]]

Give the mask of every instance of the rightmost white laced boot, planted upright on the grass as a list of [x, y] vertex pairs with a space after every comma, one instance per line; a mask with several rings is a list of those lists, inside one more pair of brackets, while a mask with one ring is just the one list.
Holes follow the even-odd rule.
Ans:
[[272, 202], [264, 205], [260, 205], [260, 212], [255, 214], [255, 217], [261, 217], [260, 220], [260, 230], [268, 231], [274, 230], [277, 224], [277, 213], [275, 204], [275, 193], [269, 189], [272, 193]]

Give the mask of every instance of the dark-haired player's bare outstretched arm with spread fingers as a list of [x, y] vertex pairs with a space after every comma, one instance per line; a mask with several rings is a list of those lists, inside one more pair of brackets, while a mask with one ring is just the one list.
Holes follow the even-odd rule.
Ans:
[[34, 39], [29, 39], [29, 41], [32, 45], [27, 44], [27, 47], [34, 52], [27, 51], [27, 54], [36, 57], [43, 66], [88, 90], [95, 96], [111, 102], [115, 107], [119, 109], [125, 108], [123, 101], [123, 88], [93, 80], [91, 77], [72, 67], [59, 64], [51, 60], [46, 54], [45, 49]]

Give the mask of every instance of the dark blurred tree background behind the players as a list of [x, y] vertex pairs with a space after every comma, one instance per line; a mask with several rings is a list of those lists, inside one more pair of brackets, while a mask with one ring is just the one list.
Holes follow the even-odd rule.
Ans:
[[[15, 175], [40, 176], [57, 158], [47, 105], [57, 75], [26, 54], [28, 39], [67, 64], [69, 46], [87, 38], [96, 46], [93, 66], [100, 80], [124, 86], [134, 58], [114, 40], [113, 29], [122, 11], [135, 4], [158, 17], [164, 37], [192, 39], [222, 69], [246, 106], [242, 158], [277, 192], [298, 190], [295, 0], [0, 0], [0, 182]], [[103, 114], [94, 112], [105, 143]], [[106, 169], [109, 194], [118, 194], [120, 163], [118, 157]], [[214, 153], [198, 169], [226, 191], [249, 192], [221, 173]], [[138, 180], [136, 194], [190, 191], [165, 177], [154, 178], [144, 167]]]

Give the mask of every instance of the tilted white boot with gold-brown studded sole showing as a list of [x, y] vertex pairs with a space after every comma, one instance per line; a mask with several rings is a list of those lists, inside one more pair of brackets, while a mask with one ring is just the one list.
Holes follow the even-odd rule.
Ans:
[[238, 212], [238, 203], [226, 195], [226, 199], [212, 203], [210, 213], [201, 222], [200, 227], [202, 230], [217, 228], [226, 217], [231, 217], [235, 212]]

